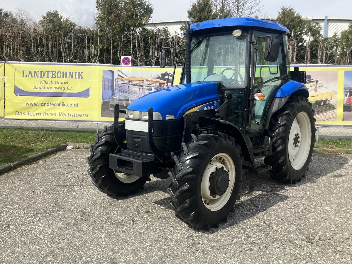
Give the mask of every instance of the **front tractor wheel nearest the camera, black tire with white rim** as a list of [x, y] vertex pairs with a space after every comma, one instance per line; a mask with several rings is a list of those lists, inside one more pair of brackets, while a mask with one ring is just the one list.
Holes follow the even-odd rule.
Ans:
[[174, 156], [168, 193], [175, 215], [186, 224], [209, 230], [227, 220], [237, 200], [242, 161], [235, 139], [219, 132], [191, 135]]

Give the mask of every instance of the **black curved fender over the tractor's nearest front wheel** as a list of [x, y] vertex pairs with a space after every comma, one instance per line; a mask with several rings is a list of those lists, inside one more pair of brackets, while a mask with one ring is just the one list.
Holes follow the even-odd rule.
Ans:
[[[236, 143], [241, 146], [242, 155], [244, 156], [243, 165], [253, 166], [253, 156], [251, 155], [247, 146], [247, 141], [243, 136], [241, 130], [229, 121], [212, 118], [212, 117], [199, 117], [199, 120], [206, 121], [209, 124], [215, 125], [216, 130], [226, 132], [231, 137], [236, 139]], [[251, 143], [251, 141], [249, 140]]]

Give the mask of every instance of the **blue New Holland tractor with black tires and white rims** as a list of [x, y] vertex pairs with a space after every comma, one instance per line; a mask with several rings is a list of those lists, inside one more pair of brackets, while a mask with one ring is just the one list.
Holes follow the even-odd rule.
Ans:
[[[117, 198], [169, 178], [175, 215], [218, 227], [239, 197], [244, 172], [284, 183], [305, 177], [315, 119], [306, 73], [290, 71], [286, 27], [253, 18], [190, 25], [180, 84], [147, 94], [90, 146], [88, 173]], [[176, 60], [178, 53], [175, 52]], [[165, 50], [160, 55], [165, 67]], [[125, 112], [119, 121], [119, 112]], [[264, 157], [264, 164], [254, 160]]]

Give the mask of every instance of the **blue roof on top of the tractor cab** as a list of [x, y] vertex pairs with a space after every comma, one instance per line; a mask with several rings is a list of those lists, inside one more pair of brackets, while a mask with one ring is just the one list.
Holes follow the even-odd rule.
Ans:
[[[191, 24], [192, 31], [198, 31], [203, 29], [211, 29], [214, 27], [228, 27], [228, 26], [249, 26], [249, 27], [262, 27], [264, 29], [273, 29], [283, 32], [290, 33], [287, 27], [277, 24], [276, 22], [248, 18], [248, 17], [239, 17], [239, 18], [220, 18], [215, 20], [208, 20], [199, 23]], [[186, 33], [186, 31], [184, 31]]]

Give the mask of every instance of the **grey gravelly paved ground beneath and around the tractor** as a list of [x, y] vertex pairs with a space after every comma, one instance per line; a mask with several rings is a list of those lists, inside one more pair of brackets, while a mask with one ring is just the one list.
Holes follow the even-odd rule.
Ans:
[[314, 154], [296, 185], [243, 177], [228, 222], [178, 220], [169, 180], [114, 200], [90, 183], [89, 150], [0, 176], [0, 263], [351, 263], [352, 155]]

